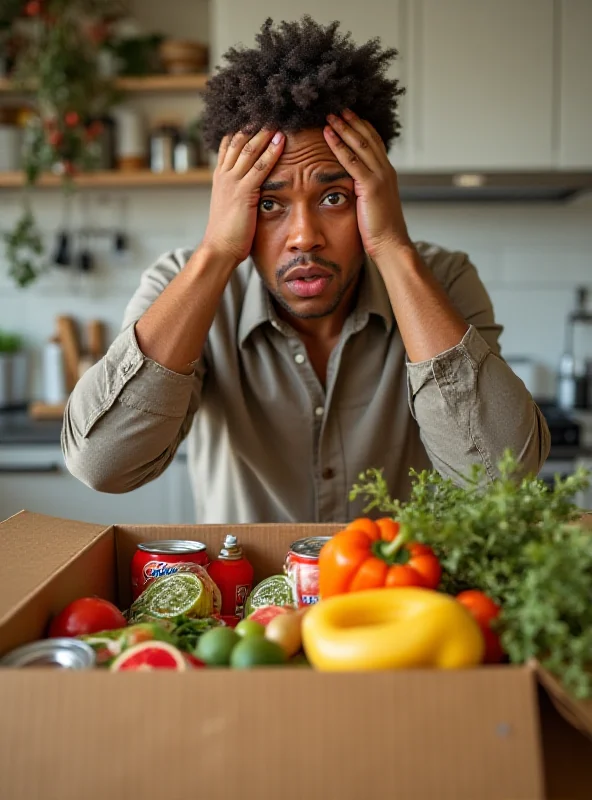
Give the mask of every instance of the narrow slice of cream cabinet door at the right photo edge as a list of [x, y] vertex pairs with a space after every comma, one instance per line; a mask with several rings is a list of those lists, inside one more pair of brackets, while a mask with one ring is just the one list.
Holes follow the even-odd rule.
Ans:
[[592, 169], [592, 0], [560, 4], [559, 162]]

